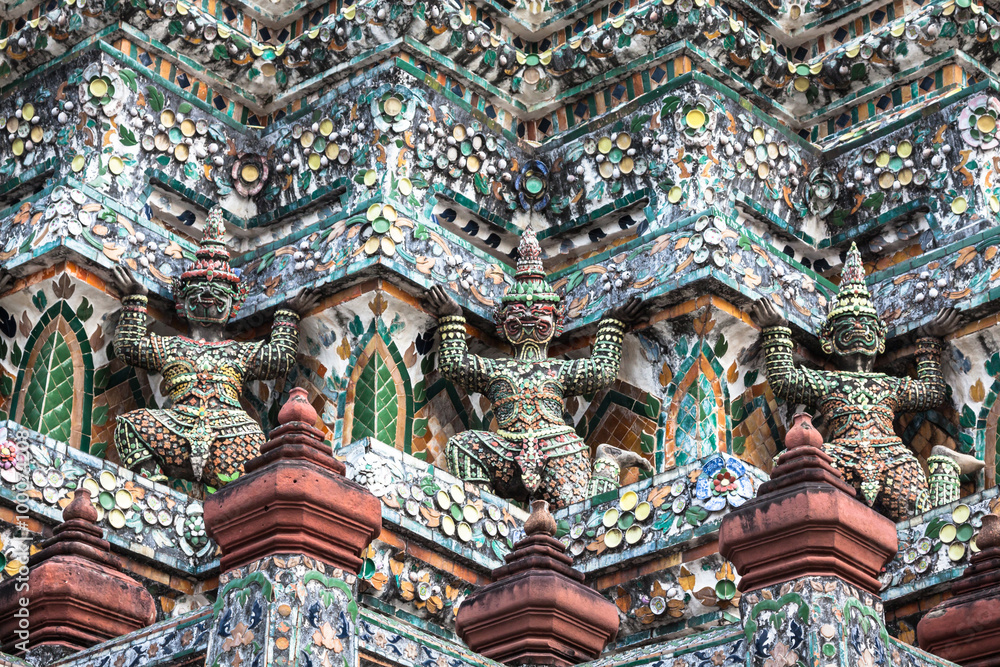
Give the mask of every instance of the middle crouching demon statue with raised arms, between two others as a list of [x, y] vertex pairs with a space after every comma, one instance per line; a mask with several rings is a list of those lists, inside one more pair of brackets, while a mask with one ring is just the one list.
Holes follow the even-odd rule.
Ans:
[[438, 369], [466, 391], [489, 398], [499, 425], [496, 433], [466, 431], [448, 441], [452, 473], [504, 497], [540, 498], [561, 507], [618, 488], [623, 466], [649, 469], [638, 454], [606, 444], [597, 448], [592, 469], [586, 443], [562, 416], [566, 396], [594, 393], [618, 376], [626, 322], [635, 319], [641, 302], [633, 297], [601, 320], [590, 358], [549, 359], [549, 344], [562, 332], [563, 304], [545, 280], [541, 256], [535, 233], [525, 230], [514, 284], [495, 313], [513, 358], [470, 354], [462, 309], [440, 286], [430, 290], [428, 303], [441, 324]]

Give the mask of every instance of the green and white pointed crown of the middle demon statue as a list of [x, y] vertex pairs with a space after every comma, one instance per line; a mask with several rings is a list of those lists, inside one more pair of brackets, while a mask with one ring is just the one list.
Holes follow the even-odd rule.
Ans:
[[562, 297], [556, 294], [545, 280], [542, 249], [538, 246], [534, 230], [528, 227], [521, 235], [521, 242], [517, 246], [517, 272], [514, 274], [514, 284], [504, 292], [495, 311], [497, 326], [503, 330], [508, 319], [521, 318], [532, 311], [536, 315], [547, 314], [552, 317], [554, 325], [552, 337], [562, 333]]

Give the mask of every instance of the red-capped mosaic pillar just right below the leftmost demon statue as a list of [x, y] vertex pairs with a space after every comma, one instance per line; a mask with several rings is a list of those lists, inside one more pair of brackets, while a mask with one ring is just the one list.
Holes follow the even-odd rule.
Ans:
[[[205, 500], [222, 549], [206, 665], [358, 664], [357, 572], [382, 531], [382, 503], [344, 477], [293, 389], [245, 474]], [[295, 582], [290, 585], [289, 582]], [[269, 633], [269, 642], [251, 641]]]

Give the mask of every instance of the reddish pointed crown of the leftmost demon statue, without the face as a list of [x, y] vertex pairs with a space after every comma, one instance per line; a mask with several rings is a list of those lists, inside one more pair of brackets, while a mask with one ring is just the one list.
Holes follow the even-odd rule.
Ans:
[[240, 276], [229, 266], [229, 249], [226, 247], [226, 225], [223, 220], [222, 208], [216, 206], [208, 213], [205, 220], [201, 241], [195, 251], [195, 261], [181, 274], [174, 278], [171, 288], [174, 293], [174, 304], [177, 313], [185, 317], [185, 297], [196, 285], [210, 283], [222, 294], [232, 299], [229, 316], [239, 312], [247, 298], [248, 287], [240, 280]]

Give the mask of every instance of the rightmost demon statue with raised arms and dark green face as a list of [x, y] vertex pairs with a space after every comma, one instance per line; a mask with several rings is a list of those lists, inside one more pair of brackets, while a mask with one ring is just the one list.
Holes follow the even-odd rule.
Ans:
[[868, 505], [900, 521], [930, 509], [932, 500], [957, 499], [959, 474], [982, 468], [973, 457], [935, 447], [928, 465], [937, 474], [929, 488], [917, 457], [893, 431], [896, 413], [927, 410], [944, 400], [941, 338], [958, 328], [959, 316], [942, 310], [918, 332], [917, 379], [873, 372], [875, 357], [885, 351], [886, 326], [865, 284], [856, 245], [847, 253], [837, 298], [820, 330], [823, 350], [840, 370], [795, 367], [792, 331], [770, 299], [754, 304], [751, 317], [763, 329], [771, 389], [823, 414], [832, 436], [823, 448]]

